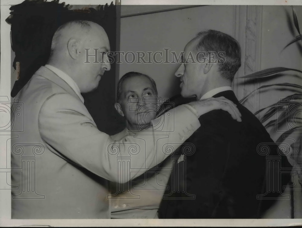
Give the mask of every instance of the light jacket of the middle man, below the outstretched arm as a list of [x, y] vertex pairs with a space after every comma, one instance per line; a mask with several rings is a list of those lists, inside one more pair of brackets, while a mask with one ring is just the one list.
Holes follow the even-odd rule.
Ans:
[[[133, 132], [126, 128], [111, 137], [119, 140]], [[127, 183], [111, 182], [109, 207], [113, 219], [154, 219], [165, 192], [166, 184], [172, 172], [172, 160], [166, 158], [162, 164], [148, 173], [141, 175]]]

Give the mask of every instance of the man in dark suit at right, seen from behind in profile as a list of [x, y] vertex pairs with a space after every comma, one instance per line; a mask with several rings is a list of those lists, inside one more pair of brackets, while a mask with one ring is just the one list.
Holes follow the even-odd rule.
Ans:
[[[274, 183], [267, 179], [266, 172], [278, 176], [278, 171], [267, 166], [268, 158], [261, 154], [264, 147], [282, 168], [290, 171], [292, 167], [261, 122], [231, 90], [240, 59], [238, 42], [219, 31], [201, 32], [185, 46], [182, 64], [175, 72], [182, 97], [189, 101], [191, 96], [197, 100], [224, 96], [237, 105], [242, 122], [223, 110], [199, 119], [202, 130], [179, 150], [159, 218], [260, 218], [290, 180], [290, 173], [282, 173]], [[191, 145], [191, 151], [184, 145]], [[271, 191], [269, 185], [281, 191]]]

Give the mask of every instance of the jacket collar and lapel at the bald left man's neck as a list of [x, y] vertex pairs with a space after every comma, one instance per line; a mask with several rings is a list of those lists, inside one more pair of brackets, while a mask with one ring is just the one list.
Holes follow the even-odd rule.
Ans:
[[52, 81], [53, 83], [66, 90], [67, 93], [79, 99], [79, 96], [76, 94], [76, 92], [63, 79], [61, 79], [57, 74], [49, 70], [47, 67], [40, 67], [35, 74]]

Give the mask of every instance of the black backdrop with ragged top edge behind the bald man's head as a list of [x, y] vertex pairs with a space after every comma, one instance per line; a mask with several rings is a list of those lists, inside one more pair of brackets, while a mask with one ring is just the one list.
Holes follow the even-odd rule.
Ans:
[[[31, 76], [47, 63], [53, 34], [59, 26], [68, 21], [87, 20], [101, 25], [108, 34], [111, 51], [116, 51], [116, 26], [120, 17], [117, 16], [117, 7], [113, 2], [110, 6], [99, 5], [96, 9], [85, 7], [72, 10], [69, 4], [59, 4], [58, 0], [26, 0], [12, 6], [10, 10], [11, 15], [6, 22], [11, 24], [14, 69], [16, 62], [20, 63], [19, 79], [12, 88], [12, 97], [16, 96]], [[98, 129], [109, 135], [119, 132], [125, 126], [124, 119], [114, 109], [116, 73], [114, 62], [111, 64], [111, 70], [102, 77], [98, 88], [91, 93], [82, 94], [85, 106]]]

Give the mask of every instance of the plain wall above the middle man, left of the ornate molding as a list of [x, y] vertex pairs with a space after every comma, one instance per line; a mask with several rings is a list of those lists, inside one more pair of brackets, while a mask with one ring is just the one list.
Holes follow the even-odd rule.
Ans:
[[[133, 7], [137, 7], [137, 12], [140, 12], [140, 7], [147, 6]], [[160, 6], [158, 7], [160, 9]], [[151, 10], [154, 10], [154, 7]], [[206, 29], [215, 29], [234, 36], [234, 11], [235, 6], [199, 6], [121, 18], [120, 51], [155, 52], [170, 48], [171, 51], [180, 53], [188, 41]], [[179, 64], [172, 63], [123, 63], [120, 64], [119, 77], [129, 71], [148, 74], [155, 80], [159, 96], [168, 98], [180, 92], [179, 79], [174, 76], [178, 66]]]

